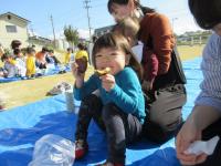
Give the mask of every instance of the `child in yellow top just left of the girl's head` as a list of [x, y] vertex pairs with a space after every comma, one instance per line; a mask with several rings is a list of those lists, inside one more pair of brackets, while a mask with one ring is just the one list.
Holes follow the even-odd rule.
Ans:
[[85, 50], [84, 44], [78, 43], [77, 44], [78, 51], [75, 54], [75, 62], [80, 66], [78, 71], [81, 73], [84, 73], [87, 69], [87, 63], [88, 63], [88, 53]]

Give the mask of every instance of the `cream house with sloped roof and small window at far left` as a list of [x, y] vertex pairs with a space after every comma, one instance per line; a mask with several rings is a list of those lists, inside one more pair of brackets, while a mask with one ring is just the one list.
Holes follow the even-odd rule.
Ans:
[[0, 42], [3, 48], [10, 49], [12, 40], [20, 40], [22, 46], [27, 46], [29, 44], [29, 20], [12, 12], [0, 14]]

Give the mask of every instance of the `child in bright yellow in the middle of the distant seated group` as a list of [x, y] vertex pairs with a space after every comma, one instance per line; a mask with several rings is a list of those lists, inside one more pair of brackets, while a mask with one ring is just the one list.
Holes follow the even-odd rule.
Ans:
[[35, 76], [35, 50], [27, 48], [27, 77], [31, 79]]

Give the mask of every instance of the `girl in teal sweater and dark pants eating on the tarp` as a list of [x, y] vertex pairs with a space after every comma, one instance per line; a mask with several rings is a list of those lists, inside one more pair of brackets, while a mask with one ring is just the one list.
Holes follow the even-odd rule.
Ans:
[[[85, 73], [73, 63], [74, 96], [82, 100], [75, 133], [75, 158], [82, 158], [88, 144], [87, 129], [92, 118], [106, 132], [108, 156], [105, 165], [125, 165], [126, 145], [141, 133], [145, 120], [145, 100], [141, 85], [141, 66], [123, 35], [106, 33], [94, 44], [93, 64], [96, 70], [109, 69], [103, 75]], [[107, 70], [108, 71], [108, 70]], [[99, 97], [92, 94], [99, 91]]]

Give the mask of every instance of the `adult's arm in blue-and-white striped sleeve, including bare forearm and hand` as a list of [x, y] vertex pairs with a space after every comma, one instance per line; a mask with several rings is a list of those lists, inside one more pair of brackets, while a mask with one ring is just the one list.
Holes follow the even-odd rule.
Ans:
[[177, 156], [185, 165], [194, 165], [206, 160], [207, 155], [186, 155], [183, 152], [189, 145], [201, 139], [201, 133], [210, 124], [221, 117], [221, 80], [219, 40], [212, 35], [203, 50], [201, 70], [203, 81], [201, 93], [196, 100], [196, 106], [177, 135]]

